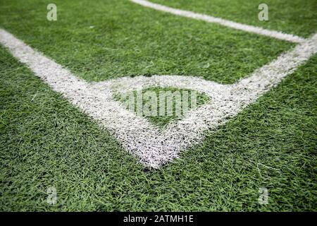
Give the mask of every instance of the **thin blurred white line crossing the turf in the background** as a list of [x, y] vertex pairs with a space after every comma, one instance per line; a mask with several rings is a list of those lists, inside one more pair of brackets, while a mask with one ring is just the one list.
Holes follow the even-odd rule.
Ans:
[[236, 30], [243, 30], [243, 31], [255, 33], [258, 35], [274, 37], [274, 38], [279, 39], [279, 40], [285, 40], [288, 42], [297, 42], [297, 43], [304, 41], [303, 37], [299, 37], [297, 35], [289, 35], [289, 34], [285, 34], [283, 32], [279, 32], [279, 31], [275, 31], [275, 30], [267, 30], [267, 29], [259, 28], [259, 27], [252, 26], [252, 25], [245, 25], [245, 24], [233, 22], [230, 20], [224, 20], [222, 18], [207, 16], [207, 15], [204, 15], [201, 13], [194, 13], [191, 11], [185, 11], [185, 10], [181, 10], [178, 8], [170, 8], [168, 6], [162, 6], [160, 4], [155, 4], [155, 3], [145, 1], [145, 0], [130, 0], [130, 1], [132, 1], [136, 4], [139, 4], [141, 6], [153, 8], [153, 9], [156, 9], [158, 11], [171, 13], [171, 14], [174, 14], [177, 16], [183, 16], [183, 17], [192, 18], [195, 20], [204, 20], [204, 21], [209, 22], [209, 23], [218, 23], [220, 25], [223, 25], [223, 26], [226, 26], [229, 28], [234, 28]]

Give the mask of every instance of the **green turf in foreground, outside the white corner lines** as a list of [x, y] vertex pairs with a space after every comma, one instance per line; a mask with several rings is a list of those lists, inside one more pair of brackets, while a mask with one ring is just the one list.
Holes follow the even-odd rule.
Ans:
[[0, 63], [1, 210], [316, 211], [317, 57], [158, 170], [2, 47]]

